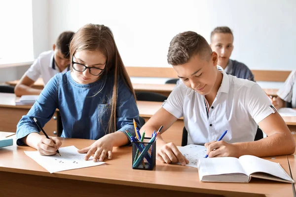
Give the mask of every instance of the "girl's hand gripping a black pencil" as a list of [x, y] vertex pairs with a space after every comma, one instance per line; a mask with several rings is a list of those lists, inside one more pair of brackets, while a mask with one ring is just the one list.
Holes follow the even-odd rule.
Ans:
[[62, 142], [57, 137], [41, 137], [37, 143], [37, 150], [40, 155], [55, 155], [57, 150], [62, 145]]

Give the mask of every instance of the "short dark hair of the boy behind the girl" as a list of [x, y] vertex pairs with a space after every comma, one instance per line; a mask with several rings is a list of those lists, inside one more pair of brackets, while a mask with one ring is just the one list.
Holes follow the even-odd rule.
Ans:
[[69, 46], [74, 32], [63, 32], [56, 41], [56, 47], [64, 54], [65, 58], [70, 58]]

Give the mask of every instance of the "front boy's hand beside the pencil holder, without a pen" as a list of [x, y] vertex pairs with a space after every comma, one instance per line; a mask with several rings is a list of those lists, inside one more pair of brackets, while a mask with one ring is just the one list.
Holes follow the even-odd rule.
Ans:
[[174, 143], [165, 143], [162, 140], [157, 141], [157, 143], [156, 159], [160, 162], [167, 164], [180, 162], [182, 165], [189, 163]]

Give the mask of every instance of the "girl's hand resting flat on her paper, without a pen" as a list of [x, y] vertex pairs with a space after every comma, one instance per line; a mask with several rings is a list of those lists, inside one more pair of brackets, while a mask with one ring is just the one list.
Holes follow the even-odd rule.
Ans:
[[92, 145], [78, 150], [78, 153], [87, 153], [85, 160], [88, 160], [91, 155], [94, 155], [93, 162], [103, 162], [105, 157], [108, 156], [108, 159], [112, 159], [112, 149], [113, 149], [114, 140], [110, 134], [105, 135], [104, 137], [95, 141]]

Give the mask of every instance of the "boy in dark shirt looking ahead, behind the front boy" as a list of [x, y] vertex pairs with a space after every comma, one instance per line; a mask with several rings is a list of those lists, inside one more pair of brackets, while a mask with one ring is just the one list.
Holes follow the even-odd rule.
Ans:
[[210, 46], [218, 54], [218, 65], [227, 74], [231, 74], [237, 78], [255, 81], [252, 71], [246, 65], [235, 60], [230, 60], [233, 50], [233, 34], [228, 27], [217, 27], [213, 30]]

